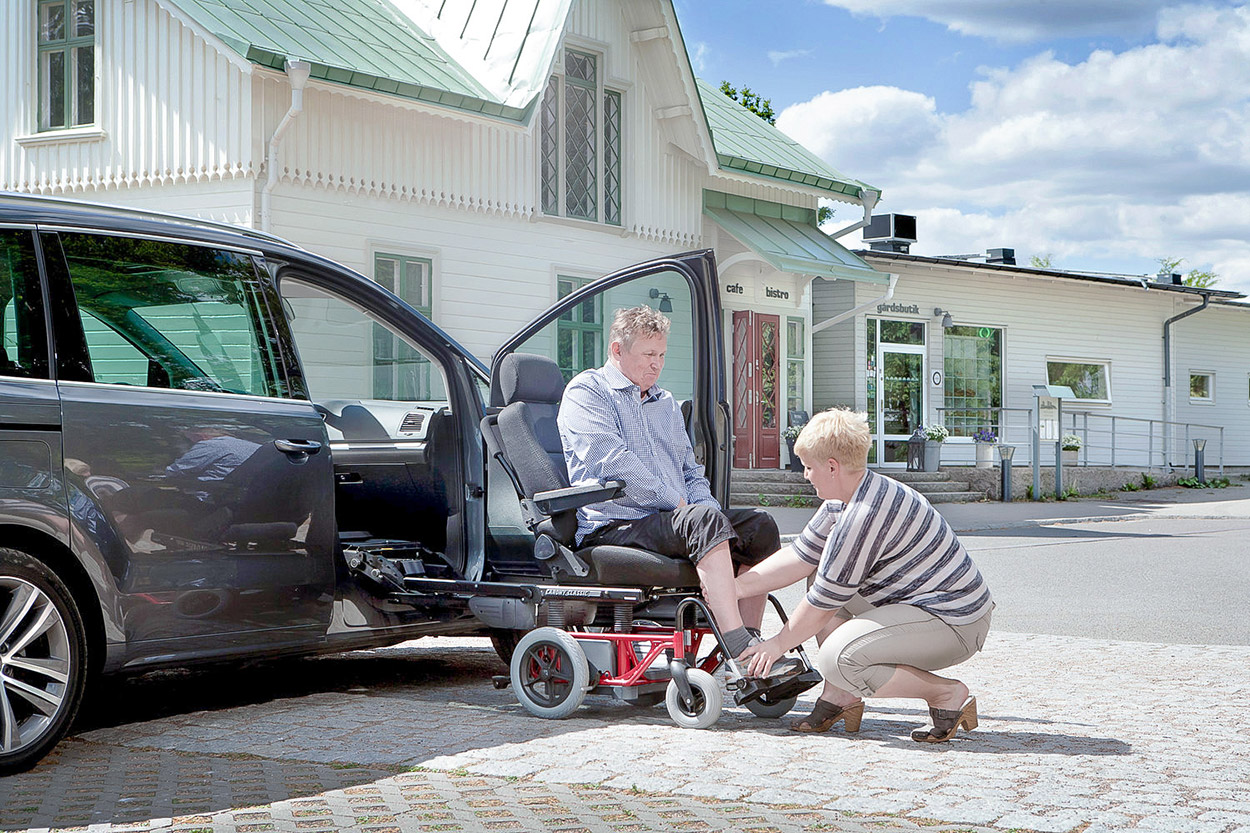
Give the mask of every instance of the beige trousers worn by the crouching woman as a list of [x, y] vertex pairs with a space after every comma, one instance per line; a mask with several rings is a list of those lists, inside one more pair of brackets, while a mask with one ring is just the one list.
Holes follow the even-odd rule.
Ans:
[[985, 644], [990, 610], [976, 622], [952, 625], [910, 604], [875, 608], [855, 595], [841, 624], [820, 645], [816, 667], [825, 680], [860, 697], [872, 697], [896, 665], [935, 672], [969, 659]]

